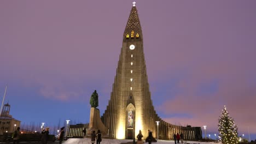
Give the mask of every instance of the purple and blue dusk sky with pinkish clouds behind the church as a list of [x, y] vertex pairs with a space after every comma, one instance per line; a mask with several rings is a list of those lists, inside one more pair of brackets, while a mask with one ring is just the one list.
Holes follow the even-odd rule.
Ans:
[[[256, 1], [137, 1], [156, 112], [256, 139]], [[88, 123], [110, 99], [132, 1], [0, 1], [0, 95], [22, 123]], [[32, 117], [32, 118], [31, 118]]]

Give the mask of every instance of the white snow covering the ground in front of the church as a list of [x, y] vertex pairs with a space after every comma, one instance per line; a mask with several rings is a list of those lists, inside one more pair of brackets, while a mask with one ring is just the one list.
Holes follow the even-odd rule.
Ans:
[[[101, 144], [120, 144], [120, 143], [126, 143], [126, 142], [132, 142], [132, 140], [111, 140], [111, 139], [102, 139]], [[184, 141], [184, 143], [190, 143], [190, 144], [216, 144], [214, 142], [198, 142], [198, 141]], [[159, 140], [158, 142], [152, 142], [152, 144], [174, 144], [173, 140]], [[71, 138], [68, 139], [64, 144], [91, 144], [90, 138], [84, 138], [84, 139], [75, 139]], [[96, 144], [96, 142], [95, 142]], [[148, 143], [145, 143], [148, 144]], [[219, 143], [220, 144], [220, 143]]]

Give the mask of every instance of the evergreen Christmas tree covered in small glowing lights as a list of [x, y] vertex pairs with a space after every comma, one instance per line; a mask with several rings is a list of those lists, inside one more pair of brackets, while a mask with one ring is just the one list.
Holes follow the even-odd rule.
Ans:
[[238, 143], [237, 125], [234, 119], [229, 117], [226, 106], [222, 110], [222, 116], [219, 117], [219, 136], [223, 144]]

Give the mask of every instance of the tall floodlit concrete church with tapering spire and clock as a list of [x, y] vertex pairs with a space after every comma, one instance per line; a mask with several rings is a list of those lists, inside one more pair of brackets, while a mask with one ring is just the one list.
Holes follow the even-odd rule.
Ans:
[[[158, 127], [158, 134], [162, 139], [171, 139], [171, 134], [182, 130], [181, 126], [162, 121], [154, 110], [143, 49], [141, 23], [133, 2], [123, 35], [113, 89], [102, 116], [102, 122], [109, 128], [109, 136], [114, 139], [133, 139], [139, 130], [147, 137], [148, 129], [157, 137]], [[156, 125], [156, 121], [159, 121], [160, 125]]]

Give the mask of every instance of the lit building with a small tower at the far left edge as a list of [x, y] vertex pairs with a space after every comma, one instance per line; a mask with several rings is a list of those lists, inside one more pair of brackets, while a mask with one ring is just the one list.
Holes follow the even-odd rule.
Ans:
[[13, 133], [18, 127], [20, 127], [20, 121], [9, 115], [10, 105], [7, 103], [3, 106], [3, 110], [0, 117], [0, 134]]

